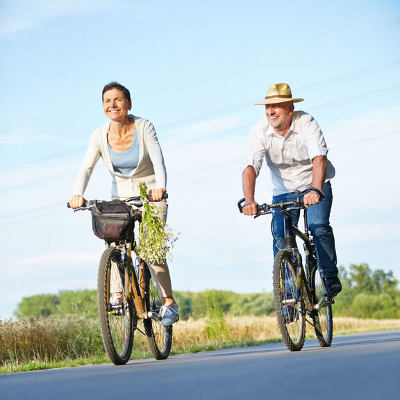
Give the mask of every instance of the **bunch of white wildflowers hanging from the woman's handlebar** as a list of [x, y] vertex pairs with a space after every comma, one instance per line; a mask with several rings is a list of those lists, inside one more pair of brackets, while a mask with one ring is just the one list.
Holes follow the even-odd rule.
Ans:
[[151, 264], [163, 263], [167, 257], [172, 258], [170, 249], [178, 240], [178, 233], [158, 217], [158, 209], [147, 199], [146, 183], [140, 182], [139, 188], [143, 212], [138, 232], [138, 256]]

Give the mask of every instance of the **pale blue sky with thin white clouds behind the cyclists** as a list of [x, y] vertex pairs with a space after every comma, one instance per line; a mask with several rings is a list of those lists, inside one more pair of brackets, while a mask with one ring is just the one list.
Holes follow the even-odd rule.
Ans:
[[[272, 83], [324, 131], [340, 265], [400, 280], [398, 1], [0, 2], [0, 318], [22, 297], [96, 287], [101, 241], [67, 210], [101, 90], [119, 81], [167, 164], [176, 290], [272, 290], [269, 217], [238, 214], [241, 164]], [[266, 167], [256, 197], [269, 201]], [[101, 165], [88, 199], [108, 199]]]

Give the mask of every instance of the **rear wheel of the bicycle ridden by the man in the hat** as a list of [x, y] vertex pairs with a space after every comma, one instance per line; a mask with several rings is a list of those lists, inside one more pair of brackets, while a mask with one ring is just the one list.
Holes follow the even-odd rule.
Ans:
[[[318, 301], [324, 298], [324, 280], [317, 268], [313, 272], [313, 294], [314, 303], [317, 304]], [[329, 347], [332, 344], [333, 339], [333, 315], [332, 315], [332, 305], [328, 304], [319, 310], [315, 310], [313, 313], [313, 322], [315, 335], [319, 346]]]

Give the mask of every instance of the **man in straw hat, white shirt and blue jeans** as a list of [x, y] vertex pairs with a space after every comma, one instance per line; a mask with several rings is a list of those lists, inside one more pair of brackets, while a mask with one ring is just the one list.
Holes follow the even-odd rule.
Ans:
[[[317, 251], [318, 269], [324, 277], [326, 294], [335, 296], [342, 290], [338, 278], [335, 238], [329, 222], [332, 206], [331, 179], [335, 168], [328, 160], [328, 148], [315, 119], [303, 111], [294, 111], [294, 103], [286, 83], [271, 85], [265, 100], [265, 117], [251, 129], [242, 174], [245, 215], [256, 215], [254, 199], [256, 178], [263, 159], [269, 167], [274, 185], [272, 201], [297, 199], [299, 192], [310, 189], [303, 197], [308, 206], [308, 226]], [[324, 196], [324, 201], [320, 201]], [[293, 221], [299, 221], [299, 211], [293, 211]], [[284, 244], [283, 215], [276, 218], [274, 230], [278, 243], [274, 255]]]

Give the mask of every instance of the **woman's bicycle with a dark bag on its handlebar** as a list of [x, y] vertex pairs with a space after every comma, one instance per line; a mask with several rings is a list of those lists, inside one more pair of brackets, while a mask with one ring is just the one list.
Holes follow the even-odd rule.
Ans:
[[[74, 211], [91, 210], [102, 202], [85, 201], [83, 206]], [[123, 213], [118, 213], [119, 204], [114, 202], [112, 205], [117, 204], [117, 212], [113, 213], [113, 207], [110, 207], [111, 213], [103, 214], [107, 217], [101, 224], [109, 228], [108, 221], [117, 220], [117, 228], [124, 229], [123, 224], [128, 224], [128, 228], [132, 230], [135, 222], [140, 224], [142, 199], [131, 197], [124, 202], [133, 207], [133, 212], [129, 210], [125, 213], [126, 208], [121, 207], [119, 210], [122, 209]], [[97, 217], [97, 214], [91, 211], [92, 215]], [[101, 211], [97, 209], [96, 213]], [[116, 217], [118, 214], [122, 215], [119, 219]], [[154, 358], [165, 360], [172, 347], [172, 326], [162, 324], [160, 312], [163, 307], [163, 295], [158, 282], [151, 274], [151, 267], [138, 257], [139, 248], [134, 232], [111, 232], [94, 232], [97, 237], [103, 239], [106, 247], [101, 254], [97, 276], [99, 319], [104, 349], [115, 365], [126, 364], [131, 357], [134, 332], [137, 330], [147, 338]], [[138, 319], [142, 320], [143, 329], [138, 327]]]

